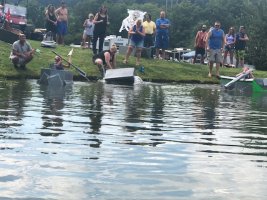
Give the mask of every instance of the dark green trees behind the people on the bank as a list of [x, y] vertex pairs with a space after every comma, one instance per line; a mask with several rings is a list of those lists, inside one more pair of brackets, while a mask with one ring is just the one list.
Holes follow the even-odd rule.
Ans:
[[[22, 1], [25, 4], [25, 1]], [[45, 7], [61, 0], [28, 0], [28, 17], [36, 27], [44, 27]], [[69, 34], [66, 41], [80, 42], [82, 24], [89, 13], [95, 14], [101, 5], [108, 7], [110, 25], [108, 34], [127, 37], [119, 33], [122, 20], [128, 16], [127, 9], [138, 9], [152, 15], [155, 21], [161, 10], [171, 21], [170, 48], [193, 48], [196, 32], [202, 24], [212, 26], [221, 22], [225, 33], [233, 26], [245, 26], [250, 41], [246, 61], [257, 69], [267, 70], [267, 1], [266, 0], [65, 0], [69, 9]]]

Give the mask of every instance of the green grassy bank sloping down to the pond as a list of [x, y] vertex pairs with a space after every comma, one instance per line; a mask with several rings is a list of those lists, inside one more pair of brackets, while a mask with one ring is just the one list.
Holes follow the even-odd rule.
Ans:
[[[36, 53], [32, 62], [27, 65], [27, 70], [15, 69], [9, 60], [11, 45], [0, 41], [0, 77], [7, 79], [33, 78], [38, 79], [41, 68], [48, 67], [53, 63], [55, 54], [51, 50], [55, 50], [58, 54], [67, 59], [67, 54], [71, 50], [69, 46], [58, 46], [56, 49], [43, 48], [38, 41], [30, 41], [33, 48], [39, 49], [40, 53]], [[100, 74], [97, 67], [92, 63], [92, 51], [88, 49], [75, 48], [72, 56], [72, 63], [85, 71], [88, 76], [98, 77]], [[126, 66], [122, 63], [122, 55], [118, 55], [118, 68], [136, 67], [135, 58], [131, 57], [129, 64]], [[144, 73], [138, 71], [136, 74], [145, 81], [152, 82], [179, 82], [179, 83], [218, 83], [216, 78], [208, 78], [208, 67], [202, 65], [192, 65], [188, 63], [178, 63], [164, 60], [142, 59], [142, 65], [145, 68]], [[73, 68], [75, 80], [83, 80]], [[235, 75], [241, 69], [221, 68], [221, 75]], [[255, 77], [267, 77], [265, 71], [255, 71]]]

